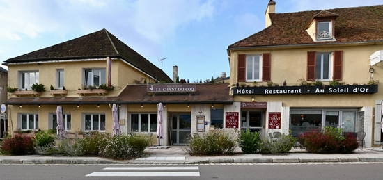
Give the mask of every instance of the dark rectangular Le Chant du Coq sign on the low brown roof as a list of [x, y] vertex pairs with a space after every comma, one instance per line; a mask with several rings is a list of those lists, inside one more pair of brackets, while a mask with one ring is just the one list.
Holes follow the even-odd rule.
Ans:
[[196, 84], [148, 84], [146, 87], [147, 92], [173, 92], [173, 93], [182, 93], [182, 92], [196, 92]]

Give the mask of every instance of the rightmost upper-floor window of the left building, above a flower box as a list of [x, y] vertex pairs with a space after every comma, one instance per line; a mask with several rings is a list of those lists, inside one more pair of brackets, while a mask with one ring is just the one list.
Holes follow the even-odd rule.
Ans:
[[105, 69], [84, 69], [84, 85], [100, 86], [105, 84]]

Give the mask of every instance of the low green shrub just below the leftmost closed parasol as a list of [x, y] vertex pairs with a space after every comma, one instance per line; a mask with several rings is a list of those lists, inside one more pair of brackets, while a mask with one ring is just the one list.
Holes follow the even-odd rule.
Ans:
[[84, 139], [68, 138], [58, 143], [58, 153], [69, 156], [84, 156]]

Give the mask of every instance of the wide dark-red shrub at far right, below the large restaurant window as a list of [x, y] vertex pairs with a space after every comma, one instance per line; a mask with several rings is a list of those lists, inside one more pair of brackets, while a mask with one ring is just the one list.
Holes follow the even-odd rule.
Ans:
[[323, 132], [312, 131], [299, 135], [299, 142], [313, 153], [350, 153], [358, 148], [357, 138], [342, 135], [342, 129], [326, 127]]

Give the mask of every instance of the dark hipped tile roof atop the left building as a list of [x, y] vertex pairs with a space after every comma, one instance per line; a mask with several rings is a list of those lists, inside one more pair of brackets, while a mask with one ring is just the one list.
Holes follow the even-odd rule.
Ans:
[[141, 69], [146, 74], [153, 76], [159, 81], [171, 82], [162, 69], [159, 69], [139, 53], [118, 40], [106, 29], [90, 33], [88, 35], [62, 42], [29, 54], [17, 56], [6, 60], [6, 63], [36, 62], [48, 60], [65, 59], [84, 59], [84, 58], [105, 58], [105, 57], [123, 58]]

